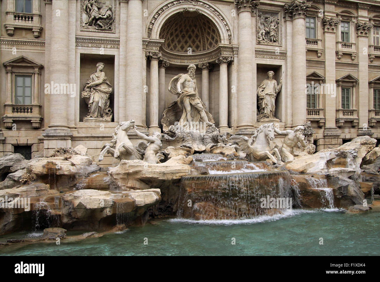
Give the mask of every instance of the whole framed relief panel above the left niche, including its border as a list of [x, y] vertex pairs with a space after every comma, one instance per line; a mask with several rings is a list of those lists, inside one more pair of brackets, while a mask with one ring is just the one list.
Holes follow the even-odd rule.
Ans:
[[116, 32], [116, 0], [81, 0], [81, 30]]

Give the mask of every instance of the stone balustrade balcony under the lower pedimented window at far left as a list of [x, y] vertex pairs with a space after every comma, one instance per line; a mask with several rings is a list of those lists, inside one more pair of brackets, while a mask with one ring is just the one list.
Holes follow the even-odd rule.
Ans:
[[15, 121], [30, 120], [33, 128], [41, 127], [41, 105], [5, 104], [5, 115], [2, 117], [6, 128], [12, 128]]

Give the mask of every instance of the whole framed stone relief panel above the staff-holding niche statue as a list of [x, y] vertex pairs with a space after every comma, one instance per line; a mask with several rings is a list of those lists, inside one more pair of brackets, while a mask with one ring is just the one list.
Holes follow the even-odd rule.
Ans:
[[282, 15], [279, 10], [258, 9], [256, 43], [282, 46]]

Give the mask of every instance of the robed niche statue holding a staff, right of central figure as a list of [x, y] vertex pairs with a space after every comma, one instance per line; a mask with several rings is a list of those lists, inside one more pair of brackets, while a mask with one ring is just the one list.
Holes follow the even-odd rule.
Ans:
[[267, 74], [268, 78], [264, 79], [257, 89], [258, 121], [275, 119], [275, 100], [282, 87], [282, 78], [280, 78], [280, 84], [277, 85], [277, 81], [273, 79], [274, 72], [268, 71]]

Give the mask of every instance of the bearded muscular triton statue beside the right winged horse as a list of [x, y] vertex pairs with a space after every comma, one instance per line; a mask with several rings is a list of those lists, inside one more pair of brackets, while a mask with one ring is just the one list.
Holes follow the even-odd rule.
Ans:
[[284, 141], [280, 148], [280, 156], [283, 162], [292, 162], [294, 160], [293, 147], [299, 142], [302, 147], [307, 147], [306, 137], [304, 136], [304, 126], [298, 126], [294, 130], [279, 130], [274, 128], [274, 132], [279, 135], [285, 135]]

